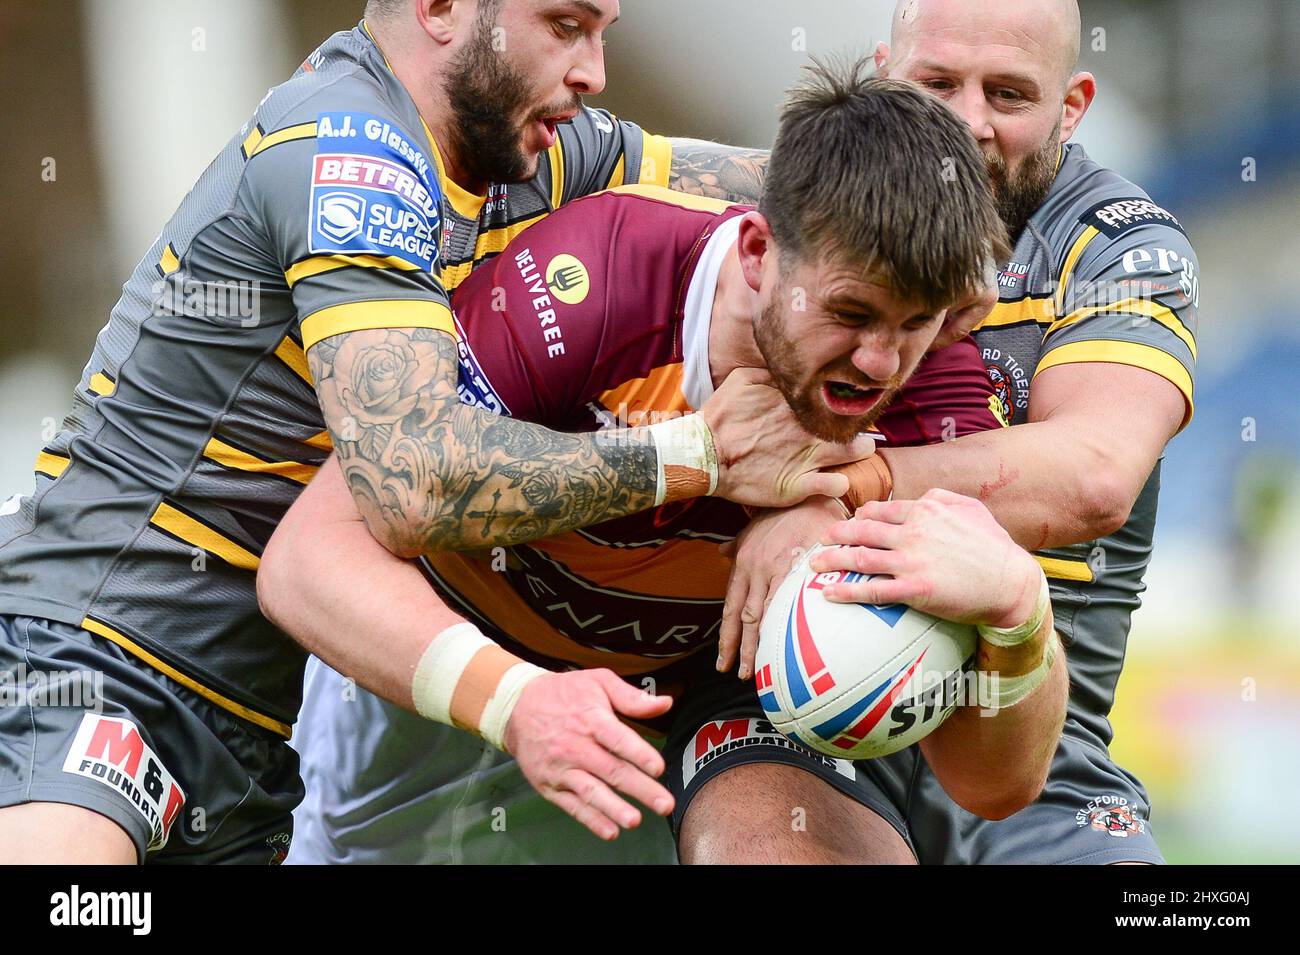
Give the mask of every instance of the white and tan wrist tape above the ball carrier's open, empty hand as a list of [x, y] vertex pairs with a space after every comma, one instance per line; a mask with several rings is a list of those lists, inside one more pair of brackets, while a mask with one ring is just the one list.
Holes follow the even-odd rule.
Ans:
[[[480, 655], [486, 648], [497, 652]], [[411, 680], [416, 712], [434, 722], [471, 729], [504, 750], [506, 725], [520, 694], [546, 673], [523, 660], [511, 664], [514, 659], [473, 624], [448, 626], [429, 642], [416, 664]], [[452, 712], [462, 685], [465, 693]]]

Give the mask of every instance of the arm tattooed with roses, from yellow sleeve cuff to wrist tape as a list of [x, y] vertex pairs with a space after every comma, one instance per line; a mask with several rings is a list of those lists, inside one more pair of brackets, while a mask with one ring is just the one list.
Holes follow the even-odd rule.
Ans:
[[463, 404], [446, 333], [352, 331], [307, 357], [358, 509], [398, 556], [536, 541], [654, 504], [649, 437], [562, 434]]

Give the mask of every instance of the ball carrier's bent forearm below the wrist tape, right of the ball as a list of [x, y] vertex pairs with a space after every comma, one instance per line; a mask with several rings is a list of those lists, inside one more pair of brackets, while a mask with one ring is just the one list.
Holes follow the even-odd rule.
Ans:
[[[1039, 647], [1006, 650], [980, 642], [979, 669], [1014, 673], [1041, 659]], [[982, 677], [983, 678], [983, 677]], [[1065, 724], [1069, 673], [1060, 650], [1043, 683], [1013, 707], [988, 709], [967, 700], [922, 742], [926, 761], [944, 791], [984, 819], [1005, 819], [1037, 798], [1048, 778]]]

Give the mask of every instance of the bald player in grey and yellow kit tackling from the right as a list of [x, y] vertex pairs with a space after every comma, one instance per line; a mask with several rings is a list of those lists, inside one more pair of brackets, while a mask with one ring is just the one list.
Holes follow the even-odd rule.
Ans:
[[[1011, 427], [889, 448], [874, 496], [933, 487], [979, 498], [1048, 573], [1071, 700], [1048, 785], [1001, 821], [958, 808], [915, 747], [871, 764], [927, 863], [1160, 863], [1141, 783], [1110, 759], [1108, 721], [1130, 616], [1150, 557], [1166, 442], [1192, 414], [1200, 270], [1178, 218], [1071, 144], [1096, 78], [1075, 71], [1074, 0], [907, 0], [880, 73], [928, 90], [967, 122], [988, 162], [1014, 252], [1000, 301], [975, 330]], [[793, 547], [852, 547], [815, 568], [888, 573], [888, 505], [840, 524], [826, 502], [759, 517], [738, 541], [719, 669], [757, 624]], [[866, 582], [840, 599], [876, 602]], [[724, 776], [699, 796], [725, 811]], [[686, 846], [684, 845], [684, 850]], [[725, 858], [720, 854], [720, 858]]]

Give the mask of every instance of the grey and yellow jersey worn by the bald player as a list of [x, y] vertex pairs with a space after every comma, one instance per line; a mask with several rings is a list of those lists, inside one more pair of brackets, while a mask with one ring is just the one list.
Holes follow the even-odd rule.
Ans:
[[[1186, 399], [1183, 426], [1191, 420], [1196, 253], [1171, 213], [1082, 147], [1063, 148], [1056, 182], [998, 283], [998, 304], [975, 342], [1009, 424], [1026, 420], [1036, 374], [1088, 361], [1166, 378]], [[1157, 464], [1123, 528], [1039, 554], [1069, 647], [1071, 715], [1104, 743], [1130, 616], [1145, 586], [1158, 494]]]

